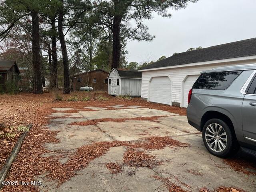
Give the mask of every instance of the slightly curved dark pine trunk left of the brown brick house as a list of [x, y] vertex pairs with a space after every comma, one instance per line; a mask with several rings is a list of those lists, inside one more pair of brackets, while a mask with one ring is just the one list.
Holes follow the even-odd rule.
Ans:
[[61, 2], [62, 2], [62, 5], [60, 6], [60, 9], [59, 9], [58, 32], [59, 32], [59, 38], [60, 38], [60, 46], [61, 46], [62, 60], [63, 60], [63, 70], [64, 70], [63, 93], [64, 94], [70, 94], [68, 54], [67, 54], [67, 48], [66, 48], [65, 38], [64, 38], [64, 34], [63, 34], [63, 10], [64, 10], [64, 3], [63, 3], [63, 0], [61, 0]]

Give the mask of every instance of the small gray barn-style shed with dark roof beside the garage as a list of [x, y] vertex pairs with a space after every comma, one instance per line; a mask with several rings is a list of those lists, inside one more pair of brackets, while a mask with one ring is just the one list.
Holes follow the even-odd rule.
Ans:
[[141, 72], [138, 70], [117, 70], [108, 74], [108, 94], [115, 96], [141, 96]]

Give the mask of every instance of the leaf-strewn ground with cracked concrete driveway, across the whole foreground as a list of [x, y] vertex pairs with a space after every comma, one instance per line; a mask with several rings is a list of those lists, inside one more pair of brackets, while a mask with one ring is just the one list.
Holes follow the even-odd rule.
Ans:
[[105, 92], [0, 95], [0, 104], [0, 166], [33, 124], [6, 180], [42, 182], [2, 191], [256, 190], [256, 159], [210, 155], [184, 108]]

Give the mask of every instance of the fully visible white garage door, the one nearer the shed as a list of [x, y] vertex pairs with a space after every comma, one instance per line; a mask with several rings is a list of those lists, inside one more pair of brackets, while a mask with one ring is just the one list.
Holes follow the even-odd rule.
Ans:
[[169, 77], [153, 77], [150, 82], [149, 101], [171, 104], [171, 81]]

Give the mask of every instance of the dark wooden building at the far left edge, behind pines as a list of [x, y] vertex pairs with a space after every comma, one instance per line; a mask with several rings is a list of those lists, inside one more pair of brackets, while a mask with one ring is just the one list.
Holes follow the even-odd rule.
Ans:
[[18, 86], [20, 70], [16, 61], [0, 60], [0, 85], [8, 83]]

